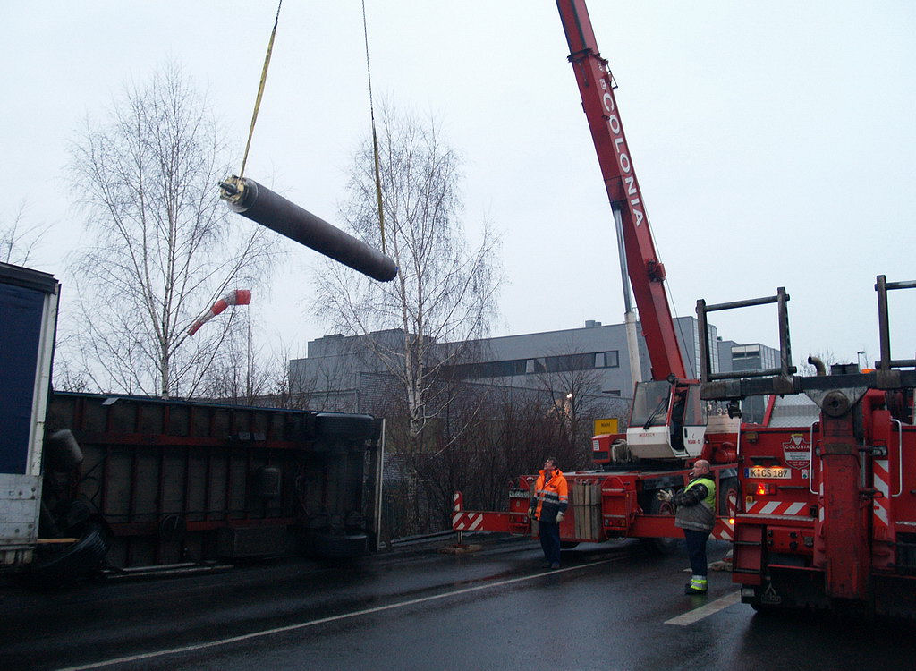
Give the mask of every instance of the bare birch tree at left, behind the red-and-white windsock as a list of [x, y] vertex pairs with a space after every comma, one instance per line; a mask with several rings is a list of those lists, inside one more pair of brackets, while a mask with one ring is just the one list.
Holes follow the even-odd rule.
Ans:
[[104, 391], [192, 395], [234, 335], [227, 311], [188, 327], [227, 289], [265, 277], [271, 244], [230, 216], [216, 182], [226, 146], [206, 98], [170, 64], [87, 120], [70, 170], [92, 244], [71, 264], [75, 353]]

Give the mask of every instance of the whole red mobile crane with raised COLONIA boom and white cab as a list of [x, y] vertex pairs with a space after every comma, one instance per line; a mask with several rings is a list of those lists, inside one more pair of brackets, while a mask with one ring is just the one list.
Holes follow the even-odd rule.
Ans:
[[[714, 465], [719, 512], [725, 515], [716, 523], [714, 537], [730, 540], [728, 513], [734, 511], [737, 500], [738, 422], [725, 415], [707, 417], [700, 382], [687, 376], [665, 292], [665, 269], [652, 241], [613, 77], [598, 51], [584, 0], [557, 0], [557, 8], [611, 211], [625, 247], [652, 378], [636, 384], [626, 435], [594, 436], [592, 457], [603, 470], [564, 474], [570, 484], [573, 513], [560, 525], [561, 539], [569, 546], [620, 537], [680, 537], [671, 505], [658, 501], [656, 493], [682, 487], [689, 462], [702, 457]], [[615, 452], [627, 458], [617, 459]], [[453, 530], [529, 534], [529, 490], [535, 479], [530, 475], [518, 479], [518, 486], [509, 492], [508, 512], [464, 511], [461, 494], [456, 493]], [[656, 545], [670, 544], [660, 541]]]

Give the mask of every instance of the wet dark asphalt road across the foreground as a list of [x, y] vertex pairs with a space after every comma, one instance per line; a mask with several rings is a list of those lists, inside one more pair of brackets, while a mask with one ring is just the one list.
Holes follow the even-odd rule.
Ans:
[[[726, 549], [711, 543], [710, 558]], [[760, 616], [735, 602], [721, 572], [711, 573], [709, 596], [686, 597], [684, 566], [682, 556], [625, 541], [581, 545], [563, 554], [561, 570], [545, 571], [536, 545], [497, 541], [471, 555], [427, 545], [350, 563], [52, 593], [2, 587], [0, 661], [9, 669], [914, 666], [911, 625]]]

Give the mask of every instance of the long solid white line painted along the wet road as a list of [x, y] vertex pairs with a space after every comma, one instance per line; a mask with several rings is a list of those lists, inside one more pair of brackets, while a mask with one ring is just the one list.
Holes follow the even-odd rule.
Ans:
[[400, 601], [398, 603], [389, 603], [387, 606], [376, 606], [375, 608], [366, 608], [362, 611], [353, 611], [345, 612], [340, 615], [333, 615], [327, 618], [320, 618], [318, 620], [310, 620], [309, 622], [299, 622], [297, 624], [288, 624], [285, 627], [276, 627], [274, 629], [265, 629], [260, 632], [251, 632], [245, 633], [240, 636], [230, 636], [228, 638], [217, 639], [216, 641], [209, 641], [202, 644], [193, 644], [193, 645], [184, 645], [179, 648], [169, 648], [166, 650], [158, 650], [152, 653], [144, 654], [131, 654], [126, 657], [116, 657], [114, 659], [105, 659], [101, 662], [93, 662], [92, 664], [79, 665], [79, 666], [67, 666], [66, 668], [60, 669], [60, 671], [81, 671], [82, 669], [90, 668], [100, 668], [102, 666], [110, 666], [116, 664], [126, 664], [128, 662], [138, 662], [144, 659], [152, 659], [153, 657], [162, 657], [167, 654], [179, 654], [179, 653], [189, 653], [195, 650], [204, 650], [206, 648], [213, 648], [217, 645], [226, 645], [234, 644], [240, 641], [248, 641], [250, 639], [261, 638], [262, 636], [270, 636], [275, 633], [284, 633], [284, 632], [294, 632], [297, 629], [305, 629], [307, 627], [313, 627], [316, 624], [325, 624], [327, 622], [337, 622], [339, 620], [348, 620], [350, 618], [359, 617], [360, 615], [369, 615], [375, 612], [382, 611], [391, 611], [396, 608], [403, 608], [404, 606], [413, 606], [418, 603], [425, 603], [427, 601], [435, 601], [440, 599], [447, 599], [449, 597], [456, 597], [461, 594], [469, 594], [471, 592], [480, 591], [481, 589], [490, 589], [495, 587], [502, 587], [504, 585], [513, 585], [520, 582], [526, 582], [528, 580], [536, 580], [538, 578], [546, 578], [549, 576], [556, 576], [559, 573], [569, 573], [570, 571], [579, 571], [583, 568], [597, 567], [601, 564], [607, 564], [612, 561], [616, 561], [620, 557], [611, 557], [610, 559], [601, 559], [596, 562], [590, 562], [588, 564], [582, 564], [577, 567], [567, 567], [567, 568], [558, 568], [552, 571], [545, 571], [543, 573], [534, 573], [530, 576], [522, 576], [520, 578], [508, 578], [507, 580], [500, 580], [499, 582], [486, 583], [485, 585], [477, 585], [472, 588], [464, 589], [455, 589], [451, 592], [445, 592], [444, 594], [434, 594], [430, 597], [421, 597], [420, 599], [411, 599], [409, 601]]

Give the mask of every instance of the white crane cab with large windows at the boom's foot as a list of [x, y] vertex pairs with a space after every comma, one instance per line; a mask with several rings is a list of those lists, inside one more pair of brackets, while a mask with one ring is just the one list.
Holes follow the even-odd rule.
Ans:
[[627, 428], [633, 457], [699, 457], [706, 432], [706, 407], [698, 380], [638, 382]]

